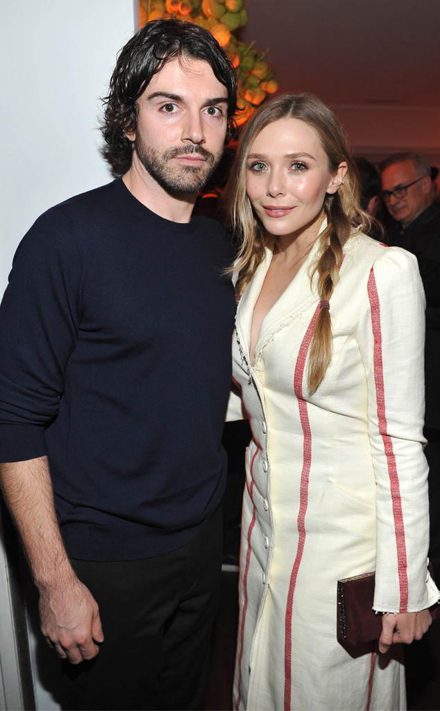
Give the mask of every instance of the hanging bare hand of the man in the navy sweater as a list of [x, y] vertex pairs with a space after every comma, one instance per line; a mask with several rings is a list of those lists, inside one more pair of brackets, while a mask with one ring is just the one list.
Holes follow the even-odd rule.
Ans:
[[77, 577], [41, 590], [39, 607], [41, 631], [59, 657], [79, 664], [97, 656], [104, 641], [100, 612]]

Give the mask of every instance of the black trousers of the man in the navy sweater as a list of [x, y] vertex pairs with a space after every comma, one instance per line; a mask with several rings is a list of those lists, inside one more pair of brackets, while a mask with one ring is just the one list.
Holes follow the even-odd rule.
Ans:
[[220, 595], [222, 511], [186, 546], [124, 562], [73, 560], [100, 607], [92, 661], [64, 661], [70, 709], [203, 709]]

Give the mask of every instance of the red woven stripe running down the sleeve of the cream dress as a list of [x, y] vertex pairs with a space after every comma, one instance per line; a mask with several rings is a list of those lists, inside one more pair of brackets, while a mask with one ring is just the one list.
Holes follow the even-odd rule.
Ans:
[[382, 362], [382, 332], [380, 327], [380, 301], [377, 294], [375, 274], [370, 271], [368, 279], [368, 298], [370, 299], [372, 333], [374, 336], [373, 364], [375, 370], [375, 386], [377, 400], [377, 420], [379, 422], [379, 432], [387, 458], [388, 476], [390, 476], [392, 513], [395, 521], [396, 547], [397, 547], [397, 570], [399, 573], [400, 588], [400, 612], [406, 612], [408, 606], [408, 575], [407, 575], [407, 547], [405, 544], [405, 532], [402, 512], [402, 499], [400, 498], [399, 475], [397, 474], [397, 464], [394, 451], [392, 449], [392, 439], [387, 434], [387, 416], [385, 411], [385, 387], [383, 378]]

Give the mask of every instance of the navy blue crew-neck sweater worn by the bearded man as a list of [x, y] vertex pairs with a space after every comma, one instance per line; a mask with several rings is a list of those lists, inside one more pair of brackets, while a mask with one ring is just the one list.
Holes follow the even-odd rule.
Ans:
[[44, 213], [0, 309], [0, 461], [48, 454], [68, 554], [175, 550], [218, 507], [235, 299], [218, 223], [118, 179]]

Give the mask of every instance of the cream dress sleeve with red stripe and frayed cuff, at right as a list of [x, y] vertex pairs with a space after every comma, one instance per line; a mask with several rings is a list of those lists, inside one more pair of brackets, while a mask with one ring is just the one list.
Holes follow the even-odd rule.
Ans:
[[370, 270], [358, 331], [377, 485], [377, 611], [418, 611], [440, 597], [427, 572], [424, 305], [414, 255], [385, 250]]

